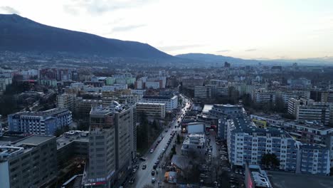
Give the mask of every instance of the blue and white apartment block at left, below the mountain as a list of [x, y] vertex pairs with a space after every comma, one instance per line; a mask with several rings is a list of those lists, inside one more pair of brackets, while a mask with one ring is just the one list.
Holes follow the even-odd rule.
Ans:
[[23, 112], [8, 115], [9, 130], [33, 135], [54, 135], [57, 129], [72, 123], [67, 109], [53, 108], [41, 112]]

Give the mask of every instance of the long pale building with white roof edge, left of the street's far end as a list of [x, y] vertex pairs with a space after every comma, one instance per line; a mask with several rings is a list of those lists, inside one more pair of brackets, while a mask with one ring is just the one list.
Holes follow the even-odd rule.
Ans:
[[145, 114], [147, 117], [164, 118], [165, 104], [163, 103], [137, 103], [137, 115]]

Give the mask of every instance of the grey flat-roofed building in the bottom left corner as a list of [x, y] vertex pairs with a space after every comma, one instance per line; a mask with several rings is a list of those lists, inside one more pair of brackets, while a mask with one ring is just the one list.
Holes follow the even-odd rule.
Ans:
[[33, 135], [0, 145], [0, 186], [46, 187], [57, 177], [56, 137]]

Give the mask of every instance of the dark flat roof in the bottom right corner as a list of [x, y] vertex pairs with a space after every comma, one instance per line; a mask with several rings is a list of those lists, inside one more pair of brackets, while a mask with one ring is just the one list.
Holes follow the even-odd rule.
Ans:
[[275, 171], [268, 171], [267, 173], [270, 183], [275, 188], [333, 187], [332, 177]]

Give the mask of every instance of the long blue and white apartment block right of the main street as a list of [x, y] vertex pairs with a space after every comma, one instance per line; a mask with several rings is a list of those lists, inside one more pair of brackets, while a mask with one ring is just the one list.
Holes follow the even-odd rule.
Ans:
[[[329, 174], [327, 147], [296, 141], [285, 130], [258, 128], [246, 118], [227, 120], [226, 126], [228, 157], [232, 165], [243, 166], [246, 162], [260, 164], [261, 157], [265, 153], [273, 153], [280, 160], [281, 170]], [[316, 155], [319, 150], [320, 155]], [[311, 171], [305, 168], [310, 166]]]

